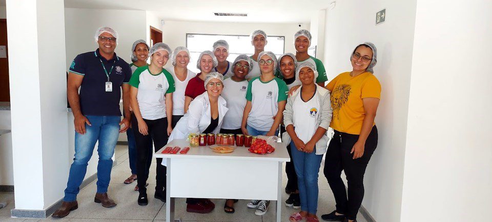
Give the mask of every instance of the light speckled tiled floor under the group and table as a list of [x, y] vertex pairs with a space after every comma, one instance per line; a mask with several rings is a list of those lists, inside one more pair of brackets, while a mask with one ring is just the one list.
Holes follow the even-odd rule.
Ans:
[[[109, 195], [115, 199], [118, 204], [114, 208], [103, 208], [100, 204], [96, 204], [93, 201], [96, 185], [95, 181], [88, 185], [86, 188], [80, 191], [77, 197], [78, 209], [72, 211], [65, 218], [53, 218], [48, 217], [46, 219], [24, 219], [24, 218], [11, 218], [10, 210], [14, 206], [13, 193], [0, 192], [0, 201], [7, 201], [6, 208], [0, 209], [0, 221], [2, 222], [35, 222], [35, 221], [60, 221], [60, 222], [96, 222], [96, 221], [165, 221], [166, 220], [166, 205], [160, 200], [153, 198], [153, 184], [155, 185], [155, 162], [153, 162], [149, 175], [149, 205], [141, 207], [137, 205], [138, 193], [133, 191], [136, 183], [126, 185], [123, 181], [130, 176], [130, 168], [128, 162], [128, 152], [126, 146], [118, 145], [116, 147], [116, 159], [117, 166], [113, 168], [111, 173], [111, 184], [109, 187]], [[323, 166], [323, 164], [321, 164]], [[330, 191], [326, 179], [324, 178], [320, 169], [319, 175], [319, 202], [318, 202], [318, 216], [321, 214], [330, 213], [335, 209], [335, 200], [333, 194]], [[286, 184], [285, 173], [283, 175], [283, 187]], [[283, 200], [288, 198], [288, 194], [282, 193]], [[210, 214], [195, 214], [186, 212], [185, 199], [179, 198], [176, 201], [176, 218], [180, 218], [181, 221], [275, 221], [275, 201], [272, 201], [269, 211], [263, 216], [256, 216], [253, 209], [248, 209], [246, 203], [249, 200], [239, 200], [235, 205], [236, 212], [234, 214], [224, 213], [223, 199], [212, 200], [216, 208]], [[282, 221], [289, 221], [289, 215], [296, 212], [293, 208], [285, 207], [282, 203]], [[366, 222], [362, 215], [357, 216], [358, 221]], [[322, 220], [321, 220], [322, 221]]]

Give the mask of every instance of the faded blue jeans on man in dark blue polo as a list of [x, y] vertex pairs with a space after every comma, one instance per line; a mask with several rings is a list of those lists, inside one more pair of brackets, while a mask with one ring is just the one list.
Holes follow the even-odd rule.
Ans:
[[75, 132], [75, 155], [70, 174], [68, 176], [67, 189], [65, 189], [64, 201], [77, 199], [80, 184], [84, 180], [87, 171], [87, 163], [92, 157], [94, 146], [99, 142], [97, 153], [97, 193], [108, 192], [109, 180], [116, 142], [118, 142], [120, 116], [86, 116], [92, 126], [86, 125], [86, 134]]

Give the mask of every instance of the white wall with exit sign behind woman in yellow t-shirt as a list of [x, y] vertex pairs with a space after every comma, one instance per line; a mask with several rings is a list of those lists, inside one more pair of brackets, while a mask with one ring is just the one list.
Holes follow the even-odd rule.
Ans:
[[[375, 26], [376, 12], [383, 8], [386, 22]], [[326, 15], [322, 60], [328, 80], [352, 70], [349, 58], [358, 44], [368, 41], [378, 48], [379, 142], [365, 173], [362, 203], [378, 222], [400, 219], [415, 8], [416, 0], [346, 0]]]

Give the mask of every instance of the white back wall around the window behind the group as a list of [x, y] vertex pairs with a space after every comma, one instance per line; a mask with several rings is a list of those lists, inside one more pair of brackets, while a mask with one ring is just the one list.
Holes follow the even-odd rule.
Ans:
[[[212, 23], [212, 22], [182, 22], [182, 21], [165, 21], [162, 26], [162, 41], [168, 44], [171, 49], [178, 46], [186, 46], [187, 33], [199, 34], [230, 34], [230, 35], [250, 35], [252, 31], [261, 29], [267, 35], [285, 36], [285, 52], [295, 53], [294, 34], [300, 29], [308, 29], [309, 24], [303, 24], [299, 27], [297, 23], [273, 24], [273, 23]], [[217, 39], [218, 40], [218, 39]], [[245, 43], [251, 45], [251, 43]], [[212, 50], [212, 46], [210, 46]], [[251, 46], [251, 53], [254, 47]], [[172, 66], [168, 63], [166, 67]]]

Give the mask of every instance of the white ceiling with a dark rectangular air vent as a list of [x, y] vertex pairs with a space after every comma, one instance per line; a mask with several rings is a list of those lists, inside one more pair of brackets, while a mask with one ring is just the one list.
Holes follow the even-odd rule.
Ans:
[[[306, 23], [334, 0], [65, 0], [66, 8], [127, 9], [153, 12], [163, 20]], [[247, 13], [247, 17], [215, 16], [214, 12]]]

